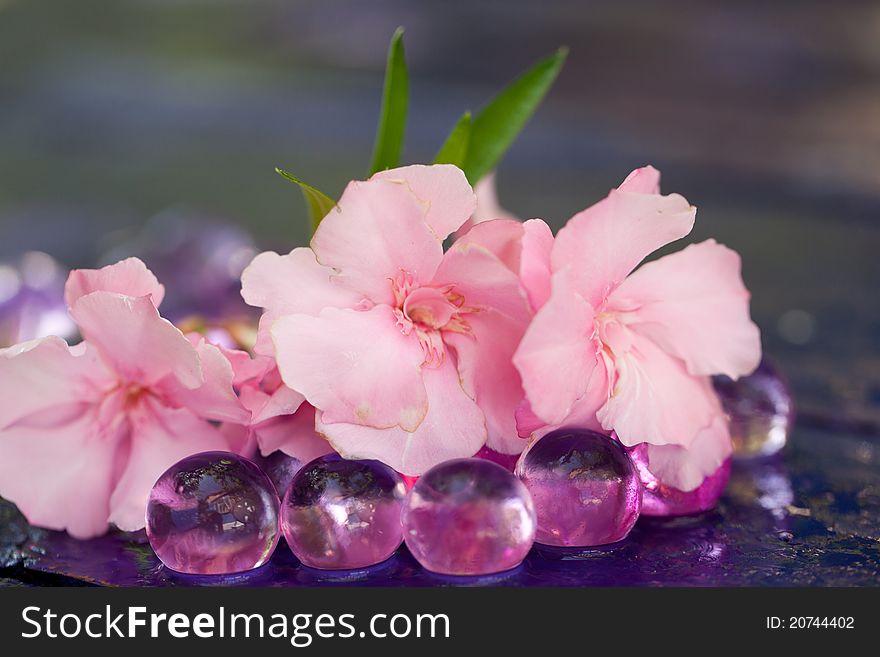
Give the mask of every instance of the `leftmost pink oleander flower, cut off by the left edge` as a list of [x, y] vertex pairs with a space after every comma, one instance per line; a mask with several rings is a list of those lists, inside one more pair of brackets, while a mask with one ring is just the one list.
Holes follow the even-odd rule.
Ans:
[[0, 495], [77, 538], [144, 526], [153, 483], [185, 456], [237, 446], [213, 422], [247, 423], [220, 350], [157, 310], [165, 289], [135, 258], [70, 274], [83, 341], [0, 350]]

